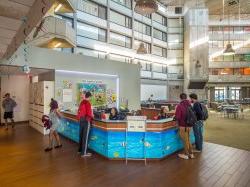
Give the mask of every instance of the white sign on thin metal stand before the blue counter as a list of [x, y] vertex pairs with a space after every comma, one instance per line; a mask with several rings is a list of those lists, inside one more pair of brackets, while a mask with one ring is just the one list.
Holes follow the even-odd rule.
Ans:
[[127, 116], [128, 132], [145, 132], [146, 116]]

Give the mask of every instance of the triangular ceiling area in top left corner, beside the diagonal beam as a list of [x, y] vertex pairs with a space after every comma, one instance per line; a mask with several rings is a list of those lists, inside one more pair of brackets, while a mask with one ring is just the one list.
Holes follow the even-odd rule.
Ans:
[[0, 0], [0, 59], [34, 2], [35, 0]]

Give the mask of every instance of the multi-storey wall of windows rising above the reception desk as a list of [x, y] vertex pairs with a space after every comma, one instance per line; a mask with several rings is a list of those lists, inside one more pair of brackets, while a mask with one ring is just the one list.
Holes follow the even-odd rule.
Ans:
[[[132, 9], [132, 0], [79, 2], [80, 13], [76, 14], [74, 22], [77, 29], [76, 53], [126, 63], [147, 64], [146, 71], [151, 72], [149, 78], [183, 77], [180, 73], [175, 76], [172, 72], [171, 76], [167, 76], [169, 72], [166, 66], [183, 65], [183, 18], [169, 18], [161, 13], [142, 17]], [[147, 56], [136, 54], [141, 42], [147, 48]], [[143, 65], [142, 71], [145, 71]]]

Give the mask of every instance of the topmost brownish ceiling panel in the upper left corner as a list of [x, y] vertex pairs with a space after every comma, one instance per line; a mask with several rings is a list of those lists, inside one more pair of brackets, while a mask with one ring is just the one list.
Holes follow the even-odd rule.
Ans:
[[0, 16], [21, 20], [27, 15], [30, 7], [9, 0], [0, 1]]

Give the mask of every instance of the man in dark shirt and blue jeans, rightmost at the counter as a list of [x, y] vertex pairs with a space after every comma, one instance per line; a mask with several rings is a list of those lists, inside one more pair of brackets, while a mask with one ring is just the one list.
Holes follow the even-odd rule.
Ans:
[[193, 104], [193, 110], [197, 117], [197, 122], [193, 126], [194, 137], [195, 137], [195, 148], [194, 152], [201, 152], [203, 145], [203, 135], [202, 135], [202, 127], [203, 127], [203, 112], [201, 103], [198, 101], [198, 96], [194, 93], [189, 95], [191, 99], [191, 103]]

